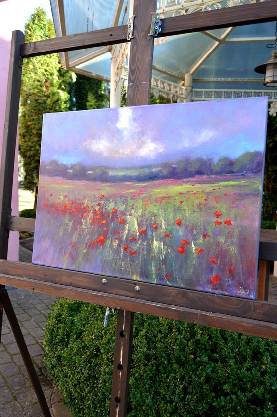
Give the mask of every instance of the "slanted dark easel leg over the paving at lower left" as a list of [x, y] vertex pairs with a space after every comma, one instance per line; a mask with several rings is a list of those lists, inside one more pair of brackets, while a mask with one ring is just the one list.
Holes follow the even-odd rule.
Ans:
[[28, 371], [29, 377], [31, 379], [31, 382], [33, 384], [35, 393], [38, 397], [40, 406], [42, 408], [43, 415], [45, 417], [51, 417], [50, 410], [48, 408], [38, 375], [36, 373], [35, 367], [33, 365], [31, 356], [29, 354], [27, 345], [25, 343], [24, 337], [22, 335], [19, 323], [17, 321], [16, 315], [14, 313], [8, 292], [6, 289], [0, 289], [0, 306], [2, 306], [5, 309], [5, 312], [7, 314], [10, 326], [12, 328], [15, 340], [17, 342], [17, 345], [19, 347], [20, 353], [22, 355], [24, 364], [26, 366], [26, 369]]

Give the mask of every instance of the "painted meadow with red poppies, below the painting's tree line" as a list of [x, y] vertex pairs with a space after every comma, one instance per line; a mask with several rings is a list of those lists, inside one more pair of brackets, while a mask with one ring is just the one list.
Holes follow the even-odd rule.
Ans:
[[255, 176], [145, 183], [42, 176], [33, 261], [254, 297], [260, 191]]

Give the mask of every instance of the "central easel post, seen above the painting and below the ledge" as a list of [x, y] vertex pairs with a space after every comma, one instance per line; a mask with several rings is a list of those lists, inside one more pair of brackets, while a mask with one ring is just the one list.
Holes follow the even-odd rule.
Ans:
[[[134, 38], [130, 44], [127, 106], [150, 102], [154, 38], [149, 33], [156, 6], [156, 0], [147, 0], [143, 7], [141, 0], [134, 0]], [[118, 310], [110, 417], [125, 417], [127, 414], [133, 321], [133, 312]]]

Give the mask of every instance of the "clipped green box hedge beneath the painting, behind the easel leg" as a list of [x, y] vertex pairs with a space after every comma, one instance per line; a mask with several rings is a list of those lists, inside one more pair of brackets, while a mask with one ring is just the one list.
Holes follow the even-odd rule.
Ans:
[[[60, 299], [45, 363], [75, 417], [108, 416], [116, 314]], [[135, 314], [128, 417], [276, 416], [277, 344]]]

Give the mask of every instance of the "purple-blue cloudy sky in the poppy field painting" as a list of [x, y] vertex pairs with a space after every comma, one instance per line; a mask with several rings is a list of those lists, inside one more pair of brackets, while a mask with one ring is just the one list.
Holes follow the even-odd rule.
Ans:
[[160, 104], [44, 116], [42, 160], [134, 167], [264, 151], [267, 98]]

